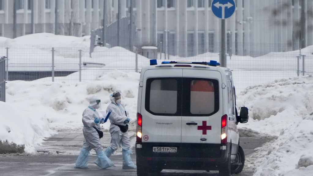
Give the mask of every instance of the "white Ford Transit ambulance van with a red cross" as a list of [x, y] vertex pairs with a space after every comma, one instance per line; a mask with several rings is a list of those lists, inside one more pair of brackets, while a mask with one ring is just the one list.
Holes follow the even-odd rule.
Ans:
[[244, 167], [232, 72], [216, 61], [156, 60], [142, 68], [137, 104], [137, 175], [162, 169], [218, 170], [238, 174]]

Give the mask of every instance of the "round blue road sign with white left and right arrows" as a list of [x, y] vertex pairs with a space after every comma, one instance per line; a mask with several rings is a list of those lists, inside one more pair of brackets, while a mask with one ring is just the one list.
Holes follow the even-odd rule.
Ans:
[[216, 17], [227, 19], [235, 13], [236, 4], [234, 0], [213, 0], [211, 10]]

